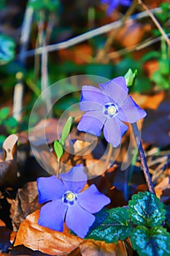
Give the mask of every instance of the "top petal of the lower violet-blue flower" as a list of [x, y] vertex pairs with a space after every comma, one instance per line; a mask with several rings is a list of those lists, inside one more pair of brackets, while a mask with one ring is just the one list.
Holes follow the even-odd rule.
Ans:
[[82, 165], [76, 165], [68, 173], [59, 175], [67, 191], [80, 192], [87, 183], [87, 175]]

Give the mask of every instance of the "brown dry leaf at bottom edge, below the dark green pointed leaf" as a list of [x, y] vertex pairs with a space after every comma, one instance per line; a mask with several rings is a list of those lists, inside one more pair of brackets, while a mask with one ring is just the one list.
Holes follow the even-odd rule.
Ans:
[[82, 256], [131, 256], [132, 248], [130, 241], [106, 244], [104, 241], [87, 240], [80, 244], [80, 252]]

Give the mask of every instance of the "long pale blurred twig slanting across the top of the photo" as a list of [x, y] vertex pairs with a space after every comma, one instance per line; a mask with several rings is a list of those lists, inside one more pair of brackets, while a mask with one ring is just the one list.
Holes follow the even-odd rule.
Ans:
[[[155, 8], [153, 10], [150, 10], [150, 12], [153, 12], [153, 13], [161, 12], [161, 8]], [[128, 20], [134, 20], [134, 19], [139, 20], [139, 19], [145, 18], [147, 16], [148, 16], [147, 12], [140, 12], [140, 13], [137, 13], [135, 15], [132, 15], [131, 18], [129, 18]], [[105, 34], [109, 31], [111, 31], [112, 29], [117, 29], [121, 25], [122, 25], [122, 20], [117, 20], [115, 22], [112, 22], [112, 23], [109, 23], [107, 25], [101, 26], [97, 29], [93, 29], [93, 30], [88, 31], [84, 34], [81, 34], [80, 36], [74, 37], [72, 39], [68, 39], [65, 42], [59, 42], [59, 43], [54, 44], [54, 45], [47, 45], [45, 47], [45, 50], [47, 50], [47, 52], [52, 52], [54, 50], [66, 49], [66, 48], [69, 48], [73, 45], [77, 45], [80, 42], [84, 42], [84, 41], [86, 41], [90, 38], [96, 37], [100, 34]], [[36, 54], [42, 54], [42, 50], [43, 50], [42, 47], [34, 49], [34, 50], [28, 50], [26, 53], [24, 53], [24, 56], [25, 57], [30, 57], [30, 56], [34, 56]]]

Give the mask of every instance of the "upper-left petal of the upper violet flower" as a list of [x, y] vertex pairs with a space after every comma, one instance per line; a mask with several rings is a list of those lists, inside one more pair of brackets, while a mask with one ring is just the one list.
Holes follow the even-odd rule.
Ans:
[[[107, 97], [103, 94], [101, 89], [94, 86], [82, 86], [82, 95], [80, 102], [97, 102], [104, 105], [108, 102]], [[81, 109], [80, 109], [81, 110]]]

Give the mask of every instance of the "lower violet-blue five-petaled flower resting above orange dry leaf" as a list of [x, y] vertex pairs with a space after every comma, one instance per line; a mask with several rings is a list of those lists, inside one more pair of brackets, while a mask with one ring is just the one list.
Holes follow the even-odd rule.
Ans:
[[76, 165], [56, 176], [37, 178], [39, 203], [42, 206], [39, 214], [39, 225], [53, 230], [63, 231], [63, 223], [84, 238], [95, 221], [94, 213], [110, 203], [109, 197], [98, 192], [93, 184], [81, 192], [87, 182], [87, 175], [82, 165]]

